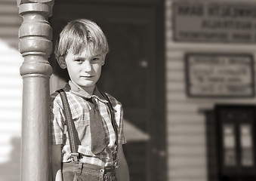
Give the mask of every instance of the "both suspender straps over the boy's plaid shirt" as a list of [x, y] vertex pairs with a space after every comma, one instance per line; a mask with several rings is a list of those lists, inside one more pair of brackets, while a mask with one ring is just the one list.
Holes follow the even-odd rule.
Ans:
[[[57, 92], [60, 93], [60, 98], [63, 103], [63, 110], [66, 118], [66, 127], [69, 135], [71, 157], [73, 161], [77, 162], [79, 158], [79, 152], [78, 152], [78, 145], [80, 143], [79, 137], [76, 131], [75, 124], [72, 121], [72, 115], [71, 115], [69, 103], [66, 97], [66, 92], [63, 89], [57, 90]], [[102, 94], [105, 100], [108, 101], [107, 106], [109, 108], [109, 112], [111, 115], [112, 126], [116, 134], [116, 150], [113, 152], [113, 163], [114, 163], [114, 167], [117, 167], [117, 164], [118, 164], [117, 150], [119, 149], [119, 143], [118, 143], [118, 130], [117, 130], [117, 124], [115, 120], [114, 110], [113, 110], [113, 106], [110, 103], [109, 97], [107, 97], [106, 94], [103, 92], [100, 92], [100, 94]]]

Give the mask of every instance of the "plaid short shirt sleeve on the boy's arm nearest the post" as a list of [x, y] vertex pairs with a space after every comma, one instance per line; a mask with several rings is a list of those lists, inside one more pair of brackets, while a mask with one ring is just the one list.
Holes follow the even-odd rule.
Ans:
[[51, 144], [64, 143], [64, 116], [60, 96], [51, 97]]

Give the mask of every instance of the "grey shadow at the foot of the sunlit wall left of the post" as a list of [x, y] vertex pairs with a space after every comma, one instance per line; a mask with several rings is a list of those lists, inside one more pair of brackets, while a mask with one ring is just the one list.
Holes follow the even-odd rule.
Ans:
[[20, 137], [11, 139], [9, 160], [0, 164], [0, 181], [20, 180]]

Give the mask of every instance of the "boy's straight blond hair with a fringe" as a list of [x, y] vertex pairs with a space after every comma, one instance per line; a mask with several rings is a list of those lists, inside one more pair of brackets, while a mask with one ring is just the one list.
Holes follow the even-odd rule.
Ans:
[[106, 36], [91, 20], [79, 19], [70, 21], [60, 32], [55, 46], [55, 56], [66, 57], [66, 54], [100, 53], [103, 56], [109, 52]]

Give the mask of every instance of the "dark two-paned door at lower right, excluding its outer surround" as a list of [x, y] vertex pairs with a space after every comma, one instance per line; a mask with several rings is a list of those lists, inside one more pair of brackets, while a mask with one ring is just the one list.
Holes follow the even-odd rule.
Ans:
[[216, 107], [219, 179], [254, 181], [255, 106]]

